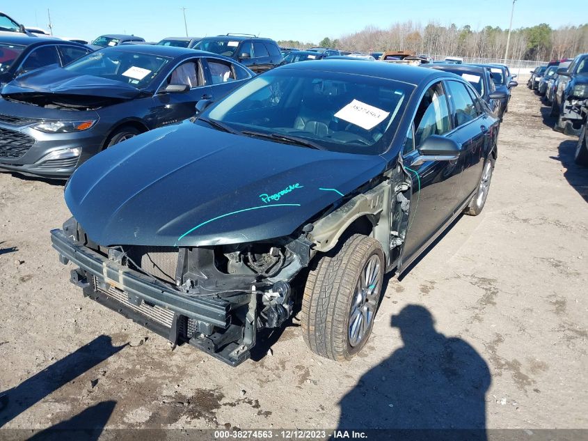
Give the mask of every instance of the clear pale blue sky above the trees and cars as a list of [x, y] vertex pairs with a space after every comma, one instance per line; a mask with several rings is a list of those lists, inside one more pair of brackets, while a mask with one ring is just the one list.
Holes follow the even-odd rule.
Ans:
[[[182, 36], [184, 6], [191, 36], [243, 32], [318, 42], [370, 24], [387, 27], [406, 20], [507, 28], [511, 5], [511, 0], [13, 0], [1, 7], [15, 20], [43, 28], [49, 8], [54, 35], [88, 40], [123, 32], [150, 41]], [[588, 22], [588, 0], [516, 1], [513, 27], [541, 22], [553, 27]]]

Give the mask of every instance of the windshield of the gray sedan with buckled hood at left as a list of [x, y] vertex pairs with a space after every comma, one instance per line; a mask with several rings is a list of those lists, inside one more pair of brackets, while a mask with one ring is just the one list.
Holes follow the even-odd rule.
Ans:
[[152, 54], [101, 49], [70, 63], [64, 69], [78, 75], [93, 75], [143, 88], [169, 61], [166, 57]]

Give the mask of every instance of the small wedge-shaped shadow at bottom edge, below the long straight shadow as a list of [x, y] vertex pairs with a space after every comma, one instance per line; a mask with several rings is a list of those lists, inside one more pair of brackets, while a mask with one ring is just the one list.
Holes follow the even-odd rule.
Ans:
[[115, 405], [116, 401], [102, 401], [70, 419], [35, 433], [29, 441], [98, 441]]

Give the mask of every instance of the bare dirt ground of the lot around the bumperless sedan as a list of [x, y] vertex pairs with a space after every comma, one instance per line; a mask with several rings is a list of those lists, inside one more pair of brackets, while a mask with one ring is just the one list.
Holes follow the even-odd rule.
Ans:
[[484, 212], [389, 281], [342, 364], [296, 320], [237, 369], [172, 350], [67, 281], [49, 243], [63, 186], [0, 173], [0, 426], [588, 427], [588, 170], [546, 115], [516, 88]]

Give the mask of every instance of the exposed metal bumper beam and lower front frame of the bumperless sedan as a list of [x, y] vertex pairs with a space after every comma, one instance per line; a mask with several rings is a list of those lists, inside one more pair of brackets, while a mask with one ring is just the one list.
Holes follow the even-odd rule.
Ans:
[[248, 359], [255, 345], [255, 295], [235, 297], [235, 302], [187, 296], [78, 245], [61, 230], [51, 231], [51, 244], [62, 263], [79, 266], [71, 281], [84, 295], [173, 343], [187, 342], [231, 366]]

